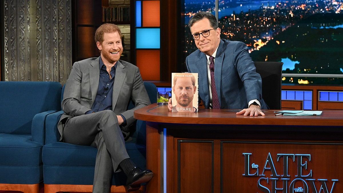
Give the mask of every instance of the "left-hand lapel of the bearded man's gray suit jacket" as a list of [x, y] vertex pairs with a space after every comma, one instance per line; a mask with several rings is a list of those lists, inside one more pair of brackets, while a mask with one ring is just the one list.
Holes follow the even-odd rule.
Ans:
[[89, 68], [89, 81], [91, 85], [92, 101], [95, 101], [96, 93], [99, 87], [99, 76], [100, 76], [100, 59], [96, 59], [91, 63]]

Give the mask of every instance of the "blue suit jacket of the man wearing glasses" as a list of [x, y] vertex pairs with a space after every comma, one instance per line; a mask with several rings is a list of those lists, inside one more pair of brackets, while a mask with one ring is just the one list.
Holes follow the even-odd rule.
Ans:
[[[196, 50], [186, 58], [188, 72], [199, 75], [199, 98], [210, 106], [207, 58]], [[221, 39], [214, 62], [214, 79], [221, 109], [245, 109], [257, 99], [261, 109], [268, 109], [262, 99], [262, 79], [256, 72], [248, 47], [243, 42]]]

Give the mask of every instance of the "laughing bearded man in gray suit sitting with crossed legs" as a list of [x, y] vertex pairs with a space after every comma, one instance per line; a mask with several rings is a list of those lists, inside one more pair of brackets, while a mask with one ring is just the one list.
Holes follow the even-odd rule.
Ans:
[[[100, 57], [75, 62], [63, 94], [64, 114], [58, 123], [60, 141], [98, 149], [93, 193], [110, 192], [113, 172], [127, 175], [127, 190], [135, 191], [151, 180], [151, 170], [142, 171], [130, 160], [124, 133], [136, 121], [133, 111], [150, 104], [137, 66], [119, 60], [123, 52], [121, 31], [103, 24], [95, 32]], [[127, 110], [133, 101], [135, 107]]]

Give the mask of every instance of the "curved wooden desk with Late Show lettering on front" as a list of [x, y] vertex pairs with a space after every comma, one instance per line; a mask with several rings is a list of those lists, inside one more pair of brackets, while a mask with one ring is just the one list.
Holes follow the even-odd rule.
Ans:
[[244, 117], [238, 110], [169, 112], [146, 121], [149, 193], [342, 193], [343, 111], [321, 116]]

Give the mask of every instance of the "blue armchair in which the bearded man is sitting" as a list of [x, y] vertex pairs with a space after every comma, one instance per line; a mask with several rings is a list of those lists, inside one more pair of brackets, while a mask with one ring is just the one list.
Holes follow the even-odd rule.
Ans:
[[[153, 83], [144, 82], [151, 103], [156, 103], [157, 88]], [[63, 93], [63, 91], [62, 91]], [[63, 94], [62, 94], [63, 95]], [[133, 104], [129, 104], [131, 109]], [[44, 192], [92, 192], [94, 166], [97, 149], [59, 142], [57, 123], [63, 111], [49, 114], [46, 118], [46, 144], [43, 147]], [[146, 168], [145, 122], [138, 120], [132, 140], [126, 142], [127, 152], [132, 161], [142, 169]], [[126, 192], [126, 175], [113, 174], [111, 192]], [[144, 186], [137, 192], [143, 192]]]

